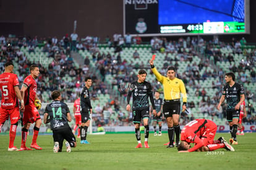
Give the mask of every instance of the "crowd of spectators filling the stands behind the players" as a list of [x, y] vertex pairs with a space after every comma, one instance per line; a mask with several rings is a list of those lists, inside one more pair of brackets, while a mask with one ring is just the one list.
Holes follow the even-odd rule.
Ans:
[[[85, 76], [90, 75], [93, 79], [92, 100], [98, 100], [99, 94], [112, 94], [109, 91], [116, 89], [119, 91], [119, 96], [124, 100], [127, 95], [127, 87], [129, 83], [137, 80], [137, 69], [149, 69], [142, 63], [127, 62], [126, 58], [122, 58], [122, 48], [130, 48], [132, 44], [140, 45], [142, 39], [140, 36], [132, 38], [129, 34], [122, 36], [114, 34], [113, 40], [106, 37], [105, 43], [114, 47], [112, 53], [101, 53], [98, 47], [100, 39], [98, 37], [86, 36], [79, 38], [74, 32], [72, 35], [65, 35], [61, 40], [58, 38], [13, 38], [9, 39], [4, 36], [0, 37], [1, 53], [0, 53], [0, 70], [4, 69], [4, 63], [7, 61], [17, 62], [17, 74], [19, 75], [20, 84], [23, 79], [29, 74], [29, 66], [38, 64], [40, 67], [40, 76], [36, 80], [38, 83], [38, 95], [41, 101], [48, 102], [50, 100], [49, 93], [53, 90], [61, 90], [62, 98], [66, 102], [74, 102], [78, 98], [79, 92], [83, 87]], [[211, 119], [223, 119], [225, 105], [223, 104], [222, 111], [216, 110], [216, 104], [221, 96], [221, 88], [224, 81], [224, 70], [218, 66], [218, 62], [226, 62], [230, 71], [236, 73], [236, 82], [245, 84], [256, 83], [255, 63], [256, 63], [256, 48], [248, 50], [245, 48], [246, 41], [236, 40], [235, 38], [230, 43], [224, 43], [214, 38], [212, 41], [205, 41], [202, 37], [179, 38], [179, 40], [167, 40], [167, 38], [153, 37], [150, 41], [151, 48], [148, 50], [151, 53], [162, 53], [165, 55], [164, 63], [158, 70], [162, 75], [166, 74], [166, 70], [170, 65], [179, 70], [180, 62], [189, 62], [184, 72], [177, 71], [177, 77], [182, 79], [186, 85], [187, 93], [190, 96], [200, 98], [200, 102], [191, 101], [188, 103], [188, 112], [181, 114], [181, 124], [195, 119], [193, 108], [199, 108], [198, 113], [202, 113], [205, 117]], [[46, 54], [46, 59], [36, 59], [34, 61], [28, 59], [26, 53], [21, 50], [26, 49], [28, 53], [38, 53], [36, 48], [41, 47], [41, 52]], [[77, 66], [72, 51], [87, 50], [92, 55], [92, 60], [86, 57], [83, 64]], [[230, 51], [228, 54], [222, 51]], [[174, 58], [170, 57], [174, 54]], [[235, 54], [241, 54], [243, 59], [237, 63], [234, 62]], [[199, 63], [194, 62], [194, 56], [200, 56]], [[140, 59], [140, 54], [134, 49], [132, 56], [134, 59]], [[92, 64], [95, 63], [94, 64]], [[148, 61], [147, 61], [148, 63]], [[210, 69], [205, 69], [210, 68]], [[93, 70], [98, 70], [97, 73]], [[246, 74], [248, 70], [250, 74]], [[148, 74], [152, 74], [148, 70]], [[112, 75], [111, 84], [106, 83], [106, 75]], [[211, 87], [217, 92], [215, 95], [208, 95], [208, 89], [202, 87], [200, 82], [211, 81]], [[154, 90], [162, 90], [161, 84], [151, 82]], [[108, 88], [109, 87], [109, 88]], [[195, 93], [190, 90], [195, 91]], [[248, 116], [244, 118], [245, 124], [255, 124], [254, 106], [255, 91], [246, 89], [245, 97], [247, 103]], [[48, 98], [43, 98], [43, 93], [47, 91]], [[132, 114], [124, 113], [121, 109], [119, 97], [113, 96], [114, 100], [109, 99], [105, 106], [95, 106], [93, 120], [95, 124], [101, 125], [130, 125], [132, 124]], [[111, 119], [111, 114], [116, 114], [116, 118]]]

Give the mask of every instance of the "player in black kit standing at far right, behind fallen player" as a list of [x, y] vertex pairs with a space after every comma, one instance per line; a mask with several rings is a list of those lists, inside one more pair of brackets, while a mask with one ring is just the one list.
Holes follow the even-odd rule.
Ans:
[[237, 124], [240, 117], [240, 106], [245, 99], [244, 87], [239, 83], [234, 82], [235, 79], [236, 76], [233, 72], [229, 72], [225, 75], [226, 85], [223, 87], [220, 103], [217, 106], [217, 109], [220, 110], [221, 104], [226, 98], [226, 116], [231, 134], [229, 142], [233, 145], [238, 144], [236, 138]]

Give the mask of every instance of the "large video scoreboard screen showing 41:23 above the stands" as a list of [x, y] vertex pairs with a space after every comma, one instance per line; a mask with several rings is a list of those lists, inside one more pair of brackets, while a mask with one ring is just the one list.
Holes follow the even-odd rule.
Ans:
[[124, 33], [250, 33], [249, 0], [125, 0]]

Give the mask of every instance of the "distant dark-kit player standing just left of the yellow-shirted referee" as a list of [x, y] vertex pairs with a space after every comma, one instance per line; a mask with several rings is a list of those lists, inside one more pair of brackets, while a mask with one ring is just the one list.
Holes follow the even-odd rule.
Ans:
[[159, 126], [159, 132], [158, 135], [161, 136], [161, 128], [162, 128], [162, 110], [163, 110], [163, 99], [160, 98], [160, 92], [156, 91], [155, 92], [155, 98], [154, 98], [154, 103], [156, 107], [156, 116], [153, 117], [153, 127], [154, 127], [154, 136], [157, 135], [156, 133], [156, 124]]

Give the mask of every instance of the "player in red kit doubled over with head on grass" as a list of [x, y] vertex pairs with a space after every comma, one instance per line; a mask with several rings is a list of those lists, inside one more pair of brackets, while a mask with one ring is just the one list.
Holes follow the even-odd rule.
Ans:
[[[181, 143], [177, 150], [179, 152], [191, 152], [213, 151], [225, 148], [226, 150], [234, 151], [234, 148], [223, 137], [214, 140], [216, 131], [217, 125], [215, 122], [207, 119], [195, 119], [186, 124], [181, 130]], [[190, 148], [190, 143], [195, 143], [194, 147]]]

